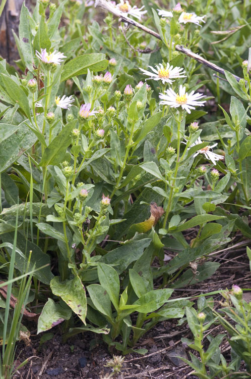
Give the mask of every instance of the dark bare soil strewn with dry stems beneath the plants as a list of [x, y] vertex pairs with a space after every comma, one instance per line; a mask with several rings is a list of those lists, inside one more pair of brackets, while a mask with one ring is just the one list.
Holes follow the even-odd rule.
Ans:
[[[198, 285], [175, 290], [174, 297], [188, 297], [220, 289], [230, 289], [233, 283], [242, 288], [251, 288], [249, 261], [245, 254], [245, 245], [250, 245], [250, 242], [237, 242], [232, 247], [218, 252], [217, 256], [212, 255], [210, 258], [212, 261], [221, 263], [216, 273]], [[250, 294], [248, 292], [244, 294], [246, 301], [251, 301]], [[217, 307], [221, 296], [216, 295], [214, 300]], [[25, 346], [23, 342], [18, 344], [18, 360], [22, 362], [28, 357], [31, 358], [29, 363], [14, 376], [15, 379], [99, 379], [111, 372], [111, 368], [104, 367], [110, 355], [99, 335], [85, 333], [62, 344], [60, 326], [52, 331], [54, 337], [41, 345], [40, 349], [41, 335], [36, 336], [35, 329], [31, 330], [32, 345]], [[207, 331], [207, 334], [209, 333], [215, 336], [223, 333], [223, 330], [221, 326], [213, 325]], [[137, 346], [137, 348], [147, 348], [148, 353], [145, 356], [127, 355], [118, 378], [185, 379], [189, 377], [194, 379], [195, 376], [190, 374], [193, 370], [175, 357], [175, 355], [184, 357], [189, 355], [189, 349], [182, 346], [180, 341], [182, 337], [192, 337], [185, 323], [182, 326], [177, 326], [177, 320], [159, 323], [140, 340]], [[226, 359], [229, 359], [230, 347], [225, 339], [221, 345], [221, 352]], [[114, 353], [119, 355], [119, 353]], [[242, 369], [244, 370], [244, 365]]]

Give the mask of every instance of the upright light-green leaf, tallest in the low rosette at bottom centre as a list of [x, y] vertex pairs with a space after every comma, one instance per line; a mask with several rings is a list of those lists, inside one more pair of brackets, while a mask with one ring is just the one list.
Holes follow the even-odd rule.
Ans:
[[118, 310], [120, 283], [117, 271], [105, 263], [98, 263], [98, 278], [100, 285], [107, 291], [112, 304]]

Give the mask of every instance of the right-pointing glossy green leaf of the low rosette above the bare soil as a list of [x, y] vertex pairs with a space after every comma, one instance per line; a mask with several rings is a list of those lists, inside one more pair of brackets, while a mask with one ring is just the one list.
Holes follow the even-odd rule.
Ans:
[[134, 305], [139, 305], [139, 308], [137, 308], [137, 312], [154, 312], [166, 303], [166, 301], [169, 299], [172, 293], [173, 290], [170, 290], [168, 288], [165, 288], [163, 290], [150, 291], [147, 294], [141, 296], [134, 303]]

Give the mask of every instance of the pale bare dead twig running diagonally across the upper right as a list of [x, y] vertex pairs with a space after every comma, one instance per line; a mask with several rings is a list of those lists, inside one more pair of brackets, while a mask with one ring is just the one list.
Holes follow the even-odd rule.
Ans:
[[[137, 28], [143, 30], [144, 32], [146, 32], [148, 34], [151, 34], [155, 38], [161, 40], [161, 36], [158, 33], [156, 33], [152, 29], [147, 28], [145, 25], [140, 24], [138, 21], [134, 21], [134, 20], [130, 19], [129, 17], [124, 16], [117, 8], [115, 8], [111, 4], [110, 1], [107, 1], [107, 0], [96, 0], [95, 1], [95, 8], [97, 8], [97, 7], [100, 7], [102, 9], [104, 9], [104, 10], [112, 13], [114, 16], [118, 17], [120, 19], [120, 21], [126, 22], [128, 24], [133, 25], [133, 26], [136, 26]], [[211, 68], [212, 70], [217, 71], [220, 74], [225, 75], [225, 72], [224, 72], [224, 70], [221, 67], [215, 65], [214, 63], [211, 63], [211, 62], [207, 61], [206, 59], [202, 58], [198, 54], [193, 53], [191, 50], [184, 48], [184, 46], [176, 45], [175, 49], [178, 52], [185, 54], [187, 57], [191, 57], [191, 58], [195, 59], [197, 62], [202, 63], [203, 65]], [[236, 75], [233, 75], [233, 76], [235, 77], [235, 79], [237, 81], [239, 81], [241, 79], [239, 76], [236, 76]]]

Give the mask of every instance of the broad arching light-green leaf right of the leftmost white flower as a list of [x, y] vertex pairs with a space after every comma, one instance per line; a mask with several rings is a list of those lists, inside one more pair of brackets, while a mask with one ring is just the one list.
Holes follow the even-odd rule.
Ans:
[[90, 71], [102, 71], [108, 65], [108, 61], [105, 59], [105, 54], [92, 53], [84, 54], [76, 57], [64, 65], [60, 81], [66, 81], [73, 76], [87, 74], [87, 70]]

